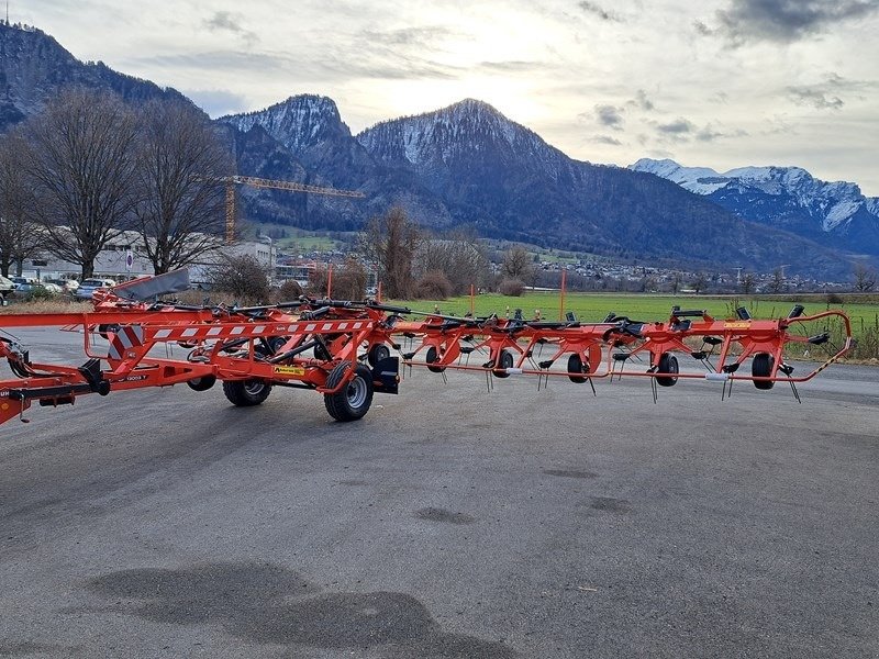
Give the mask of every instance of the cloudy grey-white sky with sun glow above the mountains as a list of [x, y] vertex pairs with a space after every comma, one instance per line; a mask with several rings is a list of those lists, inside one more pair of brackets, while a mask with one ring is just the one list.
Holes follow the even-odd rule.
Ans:
[[320, 93], [356, 133], [470, 97], [592, 163], [798, 165], [879, 196], [879, 0], [11, 0], [10, 20], [212, 116]]

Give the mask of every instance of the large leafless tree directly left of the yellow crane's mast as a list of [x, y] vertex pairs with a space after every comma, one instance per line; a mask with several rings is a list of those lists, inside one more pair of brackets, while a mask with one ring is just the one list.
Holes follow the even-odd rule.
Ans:
[[141, 118], [136, 226], [158, 275], [221, 244], [225, 198], [220, 177], [231, 172], [232, 164], [197, 110], [153, 101]]

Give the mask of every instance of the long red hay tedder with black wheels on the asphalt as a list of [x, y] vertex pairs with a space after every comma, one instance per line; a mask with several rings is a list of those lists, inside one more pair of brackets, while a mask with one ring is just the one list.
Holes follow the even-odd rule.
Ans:
[[[324, 395], [337, 421], [363, 417], [372, 394], [397, 393], [401, 343], [407, 366], [437, 373], [476, 370], [491, 378], [536, 375], [589, 382], [614, 377], [648, 378], [654, 401], [657, 387], [680, 378], [723, 382], [750, 380], [757, 389], [814, 378], [853, 345], [848, 317], [841, 311], [803, 315], [794, 306], [783, 319], [755, 320], [739, 308], [736, 317], [717, 321], [704, 311], [675, 306], [664, 322], [633, 321], [610, 314], [600, 323], [580, 323], [572, 314], [561, 322], [514, 317], [458, 317], [412, 312], [369, 300], [351, 302], [302, 298], [265, 306], [191, 306], [160, 301], [159, 295], [188, 287], [186, 271], [137, 280], [94, 297], [94, 311], [59, 314], [0, 315], [0, 357], [15, 379], [0, 381], [0, 423], [23, 413], [36, 401], [43, 406], [73, 404], [80, 395], [186, 383], [204, 391], [222, 382], [223, 393], [238, 406], [258, 405], [274, 387], [312, 389]], [[152, 301], [151, 301], [152, 300]], [[404, 316], [421, 316], [411, 321]], [[845, 328], [841, 347], [831, 349], [830, 334], [801, 331], [832, 316]], [[10, 331], [57, 327], [81, 332], [87, 360], [81, 366], [40, 364]], [[793, 377], [786, 361], [790, 344], [825, 348], [827, 358], [813, 371]], [[174, 344], [188, 350], [171, 358], [157, 347]], [[548, 359], [538, 360], [544, 349]], [[164, 355], [163, 355], [164, 353]], [[423, 353], [423, 359], [415, 359]], [[470, 356], [481, 364], [470, 365]], [[564, 360], [567, 356], [567, 359]], [[699, 372], [679, 369], [678, 356], [701, 365]], [[739, 372], [750, 359], [750, 375]], [[559, 361], [563, 360], [563, 361]], [[634, 370], [641, 361], [646, 370]], [[445, 376], [444, 376], [445, 377]]]

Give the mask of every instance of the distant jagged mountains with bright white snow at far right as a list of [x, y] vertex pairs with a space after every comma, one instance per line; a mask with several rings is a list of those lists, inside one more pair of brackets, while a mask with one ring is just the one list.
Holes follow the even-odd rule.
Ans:
[[879, 254], [879, 199], [855, 183], [825, 182], [800, 167], [739, 167], [720, 174], [642, 158], [630, 169], [703, 194], [739, 217], [857, 253]]

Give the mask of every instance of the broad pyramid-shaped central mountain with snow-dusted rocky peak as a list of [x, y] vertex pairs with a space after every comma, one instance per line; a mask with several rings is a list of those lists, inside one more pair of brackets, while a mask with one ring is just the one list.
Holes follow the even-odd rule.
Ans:
[[381, 122], [357, 139], [383, 166], [416, 177], [453, 217], [487, 235], [755, 267], [790, 261], [799, 250], [832, 267], [827, 250], [744, 222], [670, 182], [569, 158], [481, 101]]

